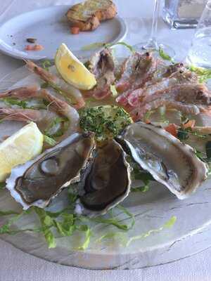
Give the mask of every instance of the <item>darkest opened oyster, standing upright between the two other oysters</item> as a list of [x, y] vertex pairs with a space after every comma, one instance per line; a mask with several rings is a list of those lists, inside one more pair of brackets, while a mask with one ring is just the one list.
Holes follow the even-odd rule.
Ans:
[[79, 183], [80, 202], [89, 211], [106, 212], [122, 202], [131, 187], [127, 155], [115, 140], [96, 150]]

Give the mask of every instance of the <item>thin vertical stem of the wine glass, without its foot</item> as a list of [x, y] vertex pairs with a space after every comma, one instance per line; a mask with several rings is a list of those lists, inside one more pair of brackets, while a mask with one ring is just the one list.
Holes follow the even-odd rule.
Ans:
[[159, 6], [160, 6], [160, 0], [155, 0], [154, 10], [153, 10], [153, 24], [152, 24], [152, 29], [151, 29], [151, 37], [148, 40], [148, 43], [144, 46], [144, 48], [146, 48], [146, 49], [150, 49], [150, 48], [158, 49], [156, 34], [158, 31]]

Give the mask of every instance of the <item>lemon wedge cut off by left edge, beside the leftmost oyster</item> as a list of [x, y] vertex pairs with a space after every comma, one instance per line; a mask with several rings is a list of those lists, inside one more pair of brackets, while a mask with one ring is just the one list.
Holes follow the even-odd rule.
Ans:
[[0, 181], [5, 181], [11, 170], [41, 153], [43, 134], [34, 122], [27, 124], [0, 145]]

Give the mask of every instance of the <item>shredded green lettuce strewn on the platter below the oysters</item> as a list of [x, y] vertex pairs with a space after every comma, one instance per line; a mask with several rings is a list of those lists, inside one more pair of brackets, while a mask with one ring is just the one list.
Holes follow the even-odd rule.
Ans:
[[[145, 175], [144, 177], [145, 180], [148, 181], [149, 176]], [[151, 235], [151, 233], [161, 231], [164, 228], [170, 228], [176, 221], [176, 218], [172, 217], [170, 221], [167, 221], [164, 226], [157, 230], [150, 230], [148, 231], [148, 233], [128, 238], [126, 232], [134, 227], [135, 219], [134, 214], [131, 214], [122, 205], [118, 205], [116, 207], [116, 209], [122, 211], [117, 214], [117, 216], [122, 213], [125, 214], [127, 218], [130, 218], [130, 222], [128, 224], [122, 223], [122, 221], [124, 221], [122, 220], [122, 218], [118, 219], [117, 216], [114, 216], [113, 210], [108, 212], [108, 218], [105, 218], [103, 216], [89, 218], [87, 216], [79, 216], [77, 214], [74, 214], [72, 211], [75, 209], [77, 194], [75, 193], [74, 186], [72, 185], [70, 185], [70, 188], [68, 189], [68, 198], [70, 200], [70, 206], [56, 212], [47, 211], [38, 207], [31, 207], [29, 210], [22, 211], [20, 214], [12, 210], [0, 211], [0, 216], [9, 216], [8, 221], [6, 221], [6, 223], [4, 223], [4, 225], [0, 227], [0, 234], [15, 235], [16, 233], [23, 231], [34, 231], [37, 233], [42, 233], [45, 237], [48, 247], [51, 249], [56, 247], [56, 233], [60, 235], [60, 237], [70, 237], [73, 233], [78, 231], [79, 233], [82, 233], [84, 237], [82, 244], [80, 244], [76, 249], [85, 250], [89, 247], [92, 236], [89, 222], [103, 223], [106, 225], [115, 226], [115, 228], [123, 230], [123, 232], [113, 231], [110, 233], [106, 233], [102, 237], [98, 238], [98, 242], [106, 239], [115, 239], [116, 237], [122, 245], [124, 244], [124, 246], [128, 246], [134, 240], [147, 237], [148, 235]], [[39, 218], [39, 227], [20, 230], [14, 230], [12, 228], [12, 225], [15, 221], [18, 221], [18, 219], [21, 218], [24, 214], [31, 214], [32, 211], [34, 211]]]

